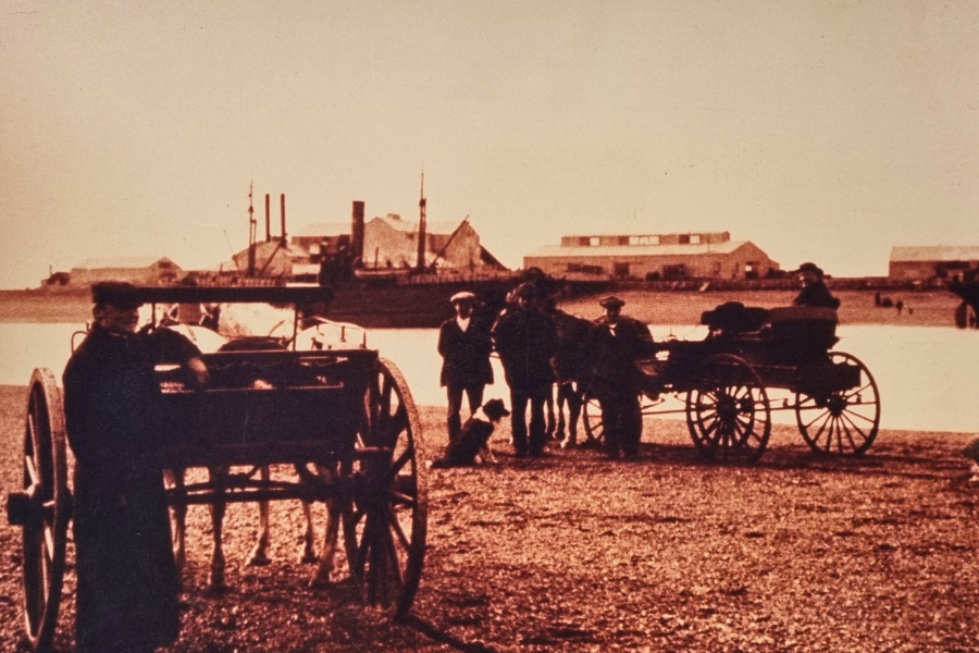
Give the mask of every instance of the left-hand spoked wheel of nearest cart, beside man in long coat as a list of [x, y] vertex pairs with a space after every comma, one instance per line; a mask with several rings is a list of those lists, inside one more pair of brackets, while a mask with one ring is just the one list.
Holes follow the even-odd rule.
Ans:
[[23, 528], [24, 614], [30, 650], [50, 651], [61, 604], [71, 494], [61, 390], [48, 369], [34, 370], [24, 430], [24, 484], [8, 496], [11, 525]]

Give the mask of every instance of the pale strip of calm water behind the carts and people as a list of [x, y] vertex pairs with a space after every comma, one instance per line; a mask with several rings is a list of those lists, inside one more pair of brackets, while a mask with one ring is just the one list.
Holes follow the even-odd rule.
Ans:
[[[36, 367], [61, 375], [71, 356], [71, 337], [82, 324], [0, 324], [0, 384], [25, 385]], [[673, 334], [701, 340], [699, 326], [653, 326], [657, 340]], [[858, 357], [880, 389], [881, 428], [924, 431], [979, 431], [979, 332], [937, 326], [841, 325], [837, 349]], [[442, 359], [434, 329], [371, 330], [368, 346], [380, 349], [405, 374], [419, 405], [445, 403], [438, 386]], [[503, 369], [493, 360], [496, 383], [486, 398], [507, 398]], [[781, 397], [773, 392], [776, 397]], [[774, 397], [773, 397], [774, 398]], [[779, 401], [774, 398], [774, 401]], [[509, 403], [509, 402], [507, 402]], [[777, 421], [793, 421], [791, 411]]]

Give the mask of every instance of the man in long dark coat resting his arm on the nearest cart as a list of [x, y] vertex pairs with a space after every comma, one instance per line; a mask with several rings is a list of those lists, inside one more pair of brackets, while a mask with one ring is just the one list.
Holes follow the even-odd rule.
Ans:
[[200, 352], [169, 329], [136, 333], [127, 283], [92, 286], [95, 323], [64, 370], [75, 454], [76, 639], [80, 653], [145, 653], [179, 633], [179, 579], [159, 457], [158, 362], [207, 382]]

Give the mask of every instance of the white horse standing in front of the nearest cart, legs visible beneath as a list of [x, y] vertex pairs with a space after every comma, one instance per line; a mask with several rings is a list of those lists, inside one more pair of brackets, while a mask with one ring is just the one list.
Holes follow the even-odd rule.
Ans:
[[[173, 329], [183, 333], [188, 340], [195, 343], [202, 353], [219, 352], [233, 343], [236, 337], [263, 335], [271, 337], [281, 337], [286, 343], [286, 338], [292, 340], [294, 316], [292, 310], [278, 309], [269, 305], [256, 304], [231, 304], [212, 307], [210, 315], [218, 315], [218, 332], [205, 326], [196, 324], [170, 323], [169, 329]], [[169, 311], [170, 321], [178, 315], [176, 309]], [[345, 324], [338, 322], [330, 322], [327, 320], [315, 319], [315, 324], [309, 329], [295, 335], [296, 349], [330, 349], [330, 348], [347, 348], [350, 346], [350, 340], [356, 341], [355, 346], [365, 346], [364, 331], [354, 324]], [[284, 344], [285, 346], [285, 344]], [[255, 380], [257, 386], [269, 387], [270, 381], [263, 379]], [[179, 489], [184, 485], [184, 469], [165, 470], [168, 482]], [[269, 466], [260, 466], [257, 470], [262, 482], [268, 482], [271, 476]], [[226, 466], [211, 467], [208, 469], [211, 482], [216, 485], [223, 484], [231, 469]], [[317, 473], [325, 481], [335, 481], [335, 470], [317, 467]], [[225, 513], [224, 503], [215, 503], [211, 506], [211, 522], [214, 533], [214, 543], [211, 552], [211, 566], [208, 576], [208, 584], [210, 588], [220, 590], [225, 587], [224, 570], [226, 566], [224, 550], [222, 546], [222, 527]], [[339, 512], [333, 501], [326, 502], [326, 532], [324, 534], [324, 544], [321, 555], [317, 555], [315, 551], [315, 531], [312, 520], [312, 506], [302, 502], [302, 513], [306, 518], [306, 529], [302, 533], [302, 544], [299, 552], [299, 562], [303, 564], [313, 564], [319, 562], [317, 571], [311, 580], [314, 584], [329, 583], [330, 577], [334, 569], [337, 538], [339, 534]], [[186, 563], [186, 517], [187, 507], [174, 506], [174, 556], [179, 569], [183, 569]], [[271, 562], [269, 556], [269, 547], [271, 543], [271, 523], [269, 518], [269, 502], [259, 502], [259, 533], [255, 546], [248, 556], [249, 565], [267, 565]]]

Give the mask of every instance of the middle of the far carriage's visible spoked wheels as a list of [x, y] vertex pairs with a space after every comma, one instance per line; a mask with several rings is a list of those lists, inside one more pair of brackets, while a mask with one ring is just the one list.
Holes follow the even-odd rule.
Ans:
[[686, 427], [704, 456], [754, 463], [771, 435], [768, 393], [752, 366], [718, 354], [701, 368], [701, 387], [686, 394]]

